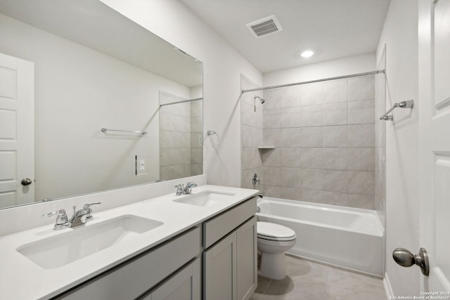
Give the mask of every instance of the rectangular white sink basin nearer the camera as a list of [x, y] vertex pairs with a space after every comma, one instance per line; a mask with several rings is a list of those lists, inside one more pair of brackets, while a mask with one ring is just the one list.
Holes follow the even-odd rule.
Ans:
[[127, 242], [162, 224], [140, 216], [124, 215], [88, 226], [63, 229], [68, 230], [67, 233], [25, 244], [17, 251], [42, 268], [58, 268], [114, 244]]

